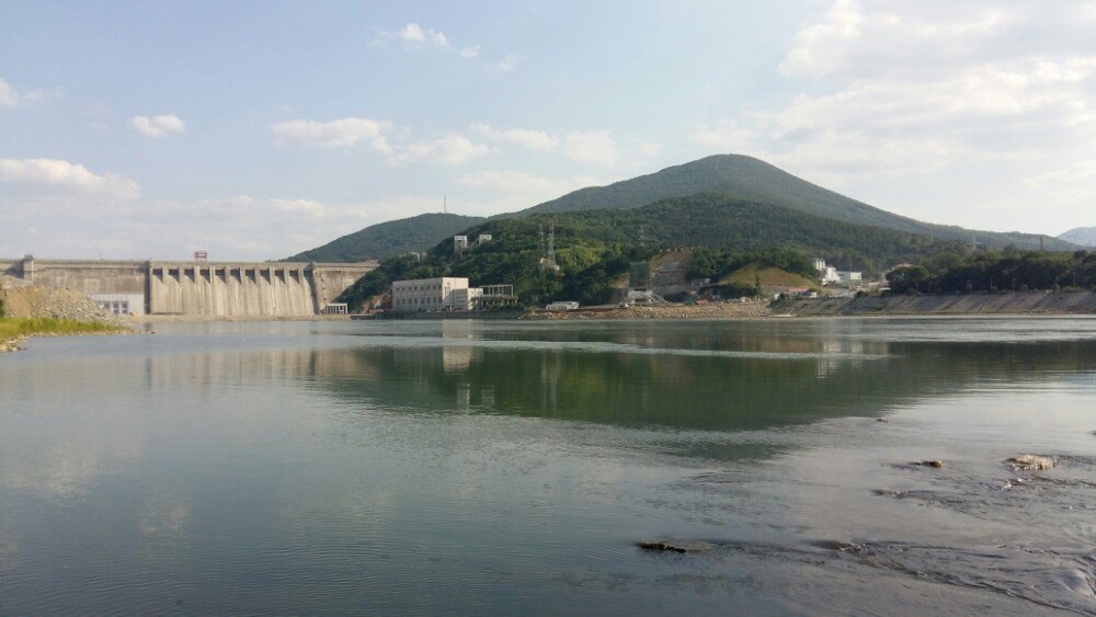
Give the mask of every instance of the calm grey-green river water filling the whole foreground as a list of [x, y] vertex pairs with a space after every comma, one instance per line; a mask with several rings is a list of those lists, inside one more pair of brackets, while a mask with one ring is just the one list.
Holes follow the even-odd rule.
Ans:
[[0, 356], [0, 614], [1096, 613], [1096, 319], [155, 331]]

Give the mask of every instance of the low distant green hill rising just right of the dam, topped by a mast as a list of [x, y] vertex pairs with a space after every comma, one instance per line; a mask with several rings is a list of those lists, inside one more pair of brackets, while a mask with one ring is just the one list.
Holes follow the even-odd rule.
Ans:
[[390, 220], [370, 225], [322, 247], [297, 253], [286, 261], [357, 262], [422, 252], [446, 236], [459, 233], [483, 220], [486, 219], [477, 216], [455, 214], [424, 214]]

